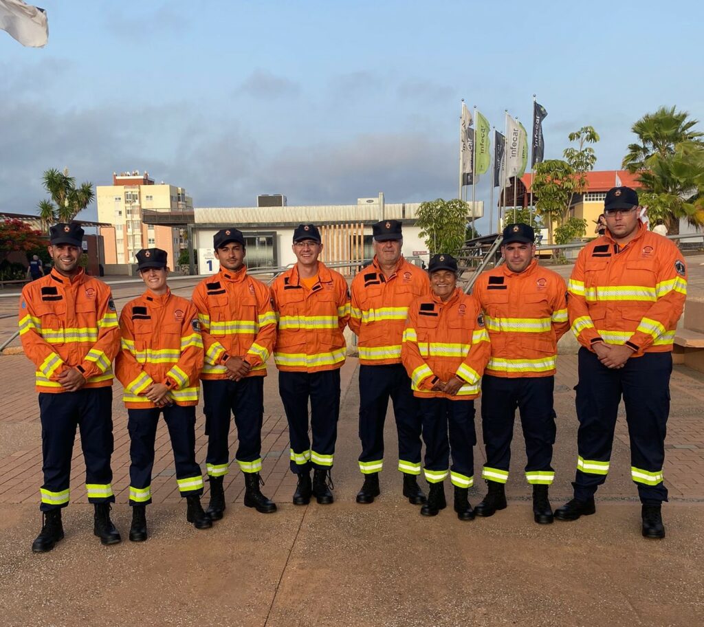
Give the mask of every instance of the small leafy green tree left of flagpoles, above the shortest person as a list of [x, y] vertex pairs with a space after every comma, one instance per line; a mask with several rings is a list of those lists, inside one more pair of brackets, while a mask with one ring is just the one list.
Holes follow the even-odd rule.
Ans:
[[437, 198], [418, 208], [416, 225], [431, 255], [457, 255], [465, 243], [465, 228], [470, 208], [465, 201]]

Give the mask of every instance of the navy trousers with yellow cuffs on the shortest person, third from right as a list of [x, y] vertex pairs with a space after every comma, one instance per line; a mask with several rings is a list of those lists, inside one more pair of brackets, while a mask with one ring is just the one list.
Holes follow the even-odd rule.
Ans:
[[[425, 442], [425, 479], [450, 479], [458, 488], [474, 484], [474, 399], [419, 398]], [[452, 454], [452, 466], [450, 465]]]

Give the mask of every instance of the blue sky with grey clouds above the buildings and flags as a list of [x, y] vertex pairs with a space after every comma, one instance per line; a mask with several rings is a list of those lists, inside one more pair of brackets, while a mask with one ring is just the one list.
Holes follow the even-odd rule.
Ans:
[[44, 49], [0, 32], [0, 208], [13, 213], [33, 213], [42, 171], [65, 166], [94, 184], [148, 170], [196, 206], [453, 198], [463, 98], [502, 130], [505, 109], [529, 122], [537, 94], [546, 158], [593, 125], [598, 170], [620, 165], [644, 113], [704, 117], [695, 2], [42, 6]]

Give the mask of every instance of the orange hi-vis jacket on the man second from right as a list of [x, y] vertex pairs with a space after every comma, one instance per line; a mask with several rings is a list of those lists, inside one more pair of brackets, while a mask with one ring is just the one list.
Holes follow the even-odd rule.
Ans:
[[479, 275], [473, 295], [491, 338], [486, 374], [515, 378], [555, 374], [558, 340], [567, 322], [567, 286], [537, 260], [520, 273], [508, 265]]

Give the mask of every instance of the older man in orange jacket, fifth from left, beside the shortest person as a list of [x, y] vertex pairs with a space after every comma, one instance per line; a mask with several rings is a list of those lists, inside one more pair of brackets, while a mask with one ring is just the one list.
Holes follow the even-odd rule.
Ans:
[[429, 293], [427, 274], [403, 259], [401, 222], [386, 220], [372, 226], [375, 256], [352, 281], [349, 326], [359, 338], [359, 467], [364, 484], [358, 503], [379, 495], [379, 472], [384, 462], [384, 419], [389, 396], [394, 403], [398, 431], [398, 469], [403, 495], [414, 505], [425, 502], [418, 486], [420, 474], [420, 413], [401, 364], [401, 338], [408, 305]]

